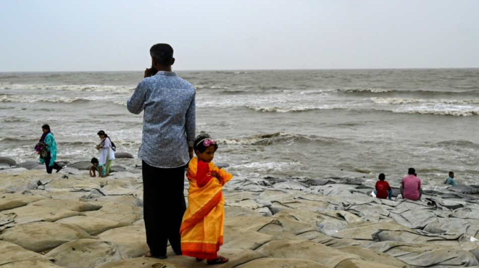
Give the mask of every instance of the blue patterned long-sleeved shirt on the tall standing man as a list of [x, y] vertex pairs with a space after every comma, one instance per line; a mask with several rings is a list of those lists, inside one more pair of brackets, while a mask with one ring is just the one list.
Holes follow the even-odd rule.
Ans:
[[159, 71], [138, 83], [127, 108], [143, 114], [138, 158], [161, 168], [185, 165], [195, 140], [195, 87], [174, 72]]

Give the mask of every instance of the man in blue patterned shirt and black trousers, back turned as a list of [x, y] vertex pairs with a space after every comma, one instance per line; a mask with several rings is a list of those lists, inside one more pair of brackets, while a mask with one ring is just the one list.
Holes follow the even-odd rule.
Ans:
[[127, 102], [128, 111], [143, 114], [142, 160], [143, 218], [147, 257], [166, 258], [169, 240], [181, 255], [179, 227], [186, 210], [185, 166], [193, 157], [195, 140], [195, 88], [171, 71], [173, 48], [150, 48], [151, 68]]

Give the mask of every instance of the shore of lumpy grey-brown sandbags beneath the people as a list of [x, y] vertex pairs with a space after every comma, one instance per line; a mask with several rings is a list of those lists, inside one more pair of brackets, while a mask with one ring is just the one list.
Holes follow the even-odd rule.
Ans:
[[[53, 174], [35, 161], [0, 162], [2, 268], [207, 265], [170, 248], [166, 259], [143, 257], [141, 169], [133, 162], [105, 178], [90, 177], [86, 161]], [[187, 188], [185, 180], [185, 195]], [[393, 200], [372, 190], [359, 178], [233, 177], [223, 189], [219, 252], [230, 261], [216, 266], [479, 267], [479, 187], [425, 191], [414, 202], [397, 189]]]

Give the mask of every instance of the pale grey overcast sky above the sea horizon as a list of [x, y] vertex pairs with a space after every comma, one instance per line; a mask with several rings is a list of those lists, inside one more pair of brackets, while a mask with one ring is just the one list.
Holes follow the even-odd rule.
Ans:
[[479, 1], [0, 1], [0, 71], [479, 67]]

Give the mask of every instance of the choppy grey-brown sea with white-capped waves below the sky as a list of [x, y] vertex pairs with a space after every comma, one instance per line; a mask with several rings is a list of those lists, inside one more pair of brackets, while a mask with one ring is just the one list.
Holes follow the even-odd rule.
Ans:
[[[240, 178], [363, 178], [398, 187], [409, 167], [440, 190], [479, 184], [479, 69], [177, 71], [196, 88], [197, 134]], [[98, 156], [104, 130], [140, 165], [143, 71], [0, 73], [0, 156], [36, 160], [49, 124], [58, 161]], [[161, 149], [158, 148], [158, 153]]]

